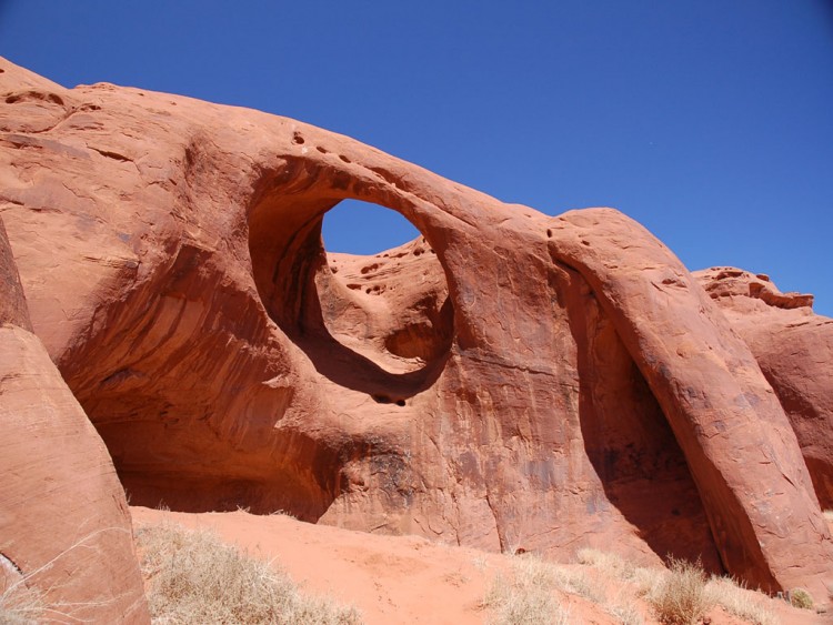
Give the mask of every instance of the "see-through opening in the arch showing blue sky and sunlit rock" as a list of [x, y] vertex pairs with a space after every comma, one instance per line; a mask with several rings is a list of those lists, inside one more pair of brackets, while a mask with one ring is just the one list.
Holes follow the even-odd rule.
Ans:
[[[421, 369], [448, 351], [452, 311], [445, 275], [409, 221], [375, 204], [342, 202], [324, 215], [322, 239], [329, 271], [317, 274], [315, 285], [333, 337], [391, 372]], [[402, 240], [373, 254], [329, 251], [367, 251], [381, 241], [389, 248]]]

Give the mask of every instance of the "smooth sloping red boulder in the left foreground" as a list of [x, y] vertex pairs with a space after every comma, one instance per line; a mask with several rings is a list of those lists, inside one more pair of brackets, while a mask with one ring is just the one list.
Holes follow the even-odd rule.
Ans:
[[124, 492], [101, 437], [27, 329], [9, 259], [0, 220], [0, 594], [37, 592], [50, 623], [145, 623]]

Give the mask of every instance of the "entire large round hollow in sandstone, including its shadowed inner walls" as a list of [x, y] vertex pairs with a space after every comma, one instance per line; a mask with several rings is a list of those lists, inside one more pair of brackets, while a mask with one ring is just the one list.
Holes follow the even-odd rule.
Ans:
[[[395, 211], [338, 204], [297, 196], [262, 201], [250, 218], [255, 283], [270, 316], [320, 373], [402, 405], [435, 379], [451, 347], [445, 273], [429, 241]], [[322, 225], [333, 208], [327, 238], [342, 250], [357, 249], [348, 246], [349, 235], [360, 239], [360, 250], [384, 246], [391, 229], [394, 236], [418, 236], [370, 255], [330, 252]]]

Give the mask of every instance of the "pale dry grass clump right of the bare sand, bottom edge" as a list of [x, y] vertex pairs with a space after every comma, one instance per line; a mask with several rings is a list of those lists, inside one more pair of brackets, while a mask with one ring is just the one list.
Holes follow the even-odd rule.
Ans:
[[494, 625], [569, 623], [555, 596], [553, 565], [532, 555], [512, 557], [510, 572], [495, 577], [484, 603]]

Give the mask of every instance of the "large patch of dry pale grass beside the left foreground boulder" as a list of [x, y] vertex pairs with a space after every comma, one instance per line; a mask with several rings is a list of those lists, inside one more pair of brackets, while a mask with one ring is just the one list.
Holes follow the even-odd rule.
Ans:
[[287, 574], [209, 531], [147, 525], [137, 530], [137, 545], [155, 623], [361, 622], [354, 608], [302, 594]]

